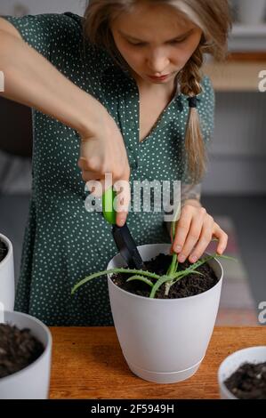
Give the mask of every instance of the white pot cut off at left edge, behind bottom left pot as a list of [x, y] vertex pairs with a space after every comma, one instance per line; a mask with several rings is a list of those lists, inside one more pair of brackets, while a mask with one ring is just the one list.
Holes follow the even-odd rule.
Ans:
[[8, 252], [0, 262], [0, 309], [13, 310], [15, 299], [14, 260], [12, 243], [0, 234], [0, 240], [7, 245]]

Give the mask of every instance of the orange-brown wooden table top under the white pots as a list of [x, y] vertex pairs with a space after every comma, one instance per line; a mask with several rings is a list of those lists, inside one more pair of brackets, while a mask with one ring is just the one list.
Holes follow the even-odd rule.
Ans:
[[125, 363], [114, 327], [51, 327], [50, 398], [219, 398], [217, 370], [235, 350], [266, 345], [265, 326], [217, 326], [197, 373], [172, 384], [146, 382]]

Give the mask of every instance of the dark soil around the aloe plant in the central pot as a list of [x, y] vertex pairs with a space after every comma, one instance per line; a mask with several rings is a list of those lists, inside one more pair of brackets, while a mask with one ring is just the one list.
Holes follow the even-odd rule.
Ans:
[[[145, 265], [150, 272], [157, 273], [160, 276], [163, 276], [167, 269], [169, 268], [172, 261], [172, 255], [159, 253], [155, 258], [151, 259], [150, 261], [145, 261]], [[187, 269], [191, 266], [191, 263], [186, 260], [184, 262], [180, 262], [178, 265], [178, 271], [180, 269]], [[209, 266], [206, 262], [205, 264], [199, 266], [197, 271], [203, 273], [204, 276], [200, 276], [197, 274], [189, 274], [188, 276], [182, 277], [181, 280], [176, 282], [174, 285], [171, 286], [170, 292], [168, 295], [165, 296], [165, 285], [162, 285], [157, 293], [157, 299], [177, 299], [177, 298], [185, 298], [188, 296], [194, 296], [198, 293], [206, 292], [207, 290], [211, 289], [216, 285], [218, 282], [218, 278], [216, 277], [214, 270]], [[111, 279], [122, 289], [127, 292], [135, 293], [140, 296], [149, 297], [151, 287], [146, 285], [145, 283], [141, 282], [140, 280], [133, 280], [132, 282], [126, 283], [126, 278], [133, 276], [132, 273], [113, 273]], [[149, 280], [153, 281], [152, 278], [149, 277]], [[154, 283], [156, 280], [154, 280]]]

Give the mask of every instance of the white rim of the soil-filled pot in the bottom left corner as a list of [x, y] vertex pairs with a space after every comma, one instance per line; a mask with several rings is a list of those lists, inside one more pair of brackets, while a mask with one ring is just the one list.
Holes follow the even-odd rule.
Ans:
[[[23, 376], [23, 374], [28, 373], [28, 370], [30, 370], [31, 368], [35, 367], [36, 364], [39, 363], [44, 358], [44, 356], [46, 356], [47, 351], [50, 348], [52, 348], [52, 334], [51, 334], [51, 331], [49, 330], [48, 326], [45, 326], [45, 324], [42, 321], [40, 321], [39, 319], [37, 319], [35, 317], [32, 317], [31, 315], [25, 314], [23, 312], [18, 312], [18, 311], [12, 311], [11, 312], [9, 310], [4, 310], [4, 314], [5, 313], [11, 313], [15, 317], [16, 316], [18, 316], [18, 317], [24, 317], [24, 318], [28, 318], [29, 321], [36, 322], [36, 324], [38, 326], [40, 326], [42, 328], [42, 330], [44, 331], [44, 333], [45, 333], [45, 335], [47, 337], [47, 344], [46, 344], [46, 347], [44, 347], [44, 352], [41, 354], [41, 356], [39, 356], [38, 358], [36, 358], [36, 360], [33, 363], [31, 363], [30, 365], [24, 367], [23, 369], [19, 370], [18, 372], [9, 374], [8, 376], [5, 376], [5, 377], [1, 377], [0, 378], [0, 386], [1, 386], [1, 383], [2, 382], [7, 382], [8, 380], [12, 380], [12, 379], [14, 379], [16, 377]], [[12, 324], [12, 325], [16, 325], [16, 324]], [[29, 329], [30, 329], [30, 326], [29, 326]]]

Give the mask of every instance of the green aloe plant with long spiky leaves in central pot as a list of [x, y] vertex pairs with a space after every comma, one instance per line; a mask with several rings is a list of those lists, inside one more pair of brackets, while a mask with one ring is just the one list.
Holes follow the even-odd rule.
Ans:
[[[175, 235], [175, 227], [176, 227], [176, 222], [177, 222], [177, 214], [179, 212], [176, 211], [174, 217], [173, 217], [173, 221], [171, 222], [171, 232], [172, 232], [172, 242], [174, 240], [174, 235]], [[216, 238], [214, 238], [212, 241], [217, 241]], [[146, 270], [142, 270], [142, 269], [123, 269], [123, 268], [116, 268], [116, 269], [109, 269], [109, 270], [102, 270], [98, 273], [93, 273], [90, 276], [87, 276], [85, 278], [83, 278], [82, 280], [80, 280], [76, 285], [74, 285], [74, 287], [72, 288], [71, 293], [75, 293], [77, 291], [77, 289], [82, 286], [85, 285], [88, 281], [93, 280], [93, 278], [96, 277], [100, 277], [106, 274], [111, 274], [111, 273], [132, 273], [131, 277], [128, 277], [126, 279], [126, 282], [131, 282], [133, 280], [139, 280], [141, 282], [146, 283], [146, 285], [149, 285], [150, 287], [150, 293], [149, 293], [149, 298], [155, 298], [156, 293], [158, 291], [158, 289], [161, 287], [161, 285], [165, 285], [165, 295], [167, 296], [170, 288], [172, 285], [174, 285], [178, 280], [181, 280], [182, 277], [188, 276], [189, 274], [197, 274], [197, 275], [201, 275], [203, 276], [202, 273], [200, 273], [199, 271], [197, 271], [197, 268], [199, 266], [201, 266], [202, 264], [206, 263], [206, 261], [209, 261], [213, 258], [225, 258], [225, 259], [229, 259], [229, 260], [233, 260], [236, 261], [236, 259], [234, 257], [230, 257], [227, 255], [219, 255], [217, 253], [208, 255], [204, 258], [199, 259], [198, 261], [194, 262], [193, 264], [191, 264], [189, 266], [189, 268], [187, 269], [178, 269], [179, 267], [179, 262], [177, 260], [177, 254], [173, 253], [172, 256], [172, 261], [171, 264], [169, 266], [169, 268], [167, 269], [167, 272], [165, 275], [163, 276], [159, 276], [156, 273], [152, 273], [150, 271], [146, 271]], [[153, 281], [151, 281], [150, 279], [155, 279], [156, 282], [154, 283]]]

